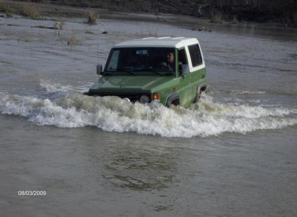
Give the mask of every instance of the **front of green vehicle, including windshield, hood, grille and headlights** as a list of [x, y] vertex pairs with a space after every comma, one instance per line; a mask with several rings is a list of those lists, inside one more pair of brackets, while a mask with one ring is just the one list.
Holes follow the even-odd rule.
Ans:
[[[162, 89], [176, 77], [176, 64], [167, 64], [173, 48], [113, 48], [102, 77], [89, 90], [89, 96], [118, 96], [131, 102], [161, 100]], [[154, 91], [158, 90], [158, 91]]]

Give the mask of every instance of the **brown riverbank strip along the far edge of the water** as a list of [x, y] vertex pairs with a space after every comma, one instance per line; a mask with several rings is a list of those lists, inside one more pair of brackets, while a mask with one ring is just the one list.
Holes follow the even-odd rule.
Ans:
[[[13, 13], [24, 15], [34, 19], [41, 19], [46, 16], [53, 17], [83, 17], [87, 18], [90, 11], [95, 11], [101, 19], [124, 19], [151, 21], [159, 23], [187, 22], [193, 30], [204, 30], [202, 28], [207, 23], [218, 24], [259, 24], [266, 26], [297, 27], [297, 23], [282, 22], [282, 20], [266, 20], [263, 15], [257, 15], [251, 18], [242, 13], [241, 15], [224, 15], [219, 10], [210, 11], [209, 7], [202, 4], [188, 2], [167, 2], [160, 4], [157, 0], [136, 1], [134, 4], [126, 1], [112, 0], [100, 1], [100, 3], [78, 3], [80, 1], [48, 1], [42, 3], [24, 2], [15, 0], [0, 0], [0, 12], [6, 12], [7, 16], [13, 16]], [[103, 3], [102, 3], [103, 2]], [[105, 2], [105, 3], [104, 3]], [[126, 3], [125, 3], [126, 2]], [[129, 12], [129, 15], [126, 15]], [[26, 15], [25, 14], [25, 15]], [[245, 17], [246, 19], [243, 19]]]

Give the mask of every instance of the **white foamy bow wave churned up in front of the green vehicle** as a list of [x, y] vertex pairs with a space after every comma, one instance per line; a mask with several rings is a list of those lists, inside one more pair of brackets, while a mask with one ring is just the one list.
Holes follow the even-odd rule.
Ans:
[[247, 133], [297, 124], [297, 109], [228, 105], [202, 96], [190, 109], [158, 104], [132, 104], [118, 97], [67, 94], [55, 100], [0, 92], [0, 112], [27, 117], [39, 125], [94, 126], [105, 131], [136, 132], [164, 137]]

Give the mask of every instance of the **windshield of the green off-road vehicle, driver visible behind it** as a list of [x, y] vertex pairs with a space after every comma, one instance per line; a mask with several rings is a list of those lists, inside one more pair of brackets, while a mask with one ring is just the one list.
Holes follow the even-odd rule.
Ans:
[[175, 72], [174, 48], [113, 49], [105, 72], [124, 72], [133, 75], [143, 72], [172, 75]]

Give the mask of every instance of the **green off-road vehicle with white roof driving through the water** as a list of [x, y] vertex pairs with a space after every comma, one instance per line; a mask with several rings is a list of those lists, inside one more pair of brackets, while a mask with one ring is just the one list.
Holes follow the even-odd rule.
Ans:
[[206, 70], [196, 38], [144, 38], [115, 45], [102, 75], [85, 95], [189, 107], [206, 91]]

